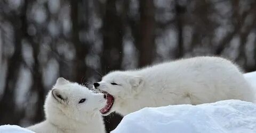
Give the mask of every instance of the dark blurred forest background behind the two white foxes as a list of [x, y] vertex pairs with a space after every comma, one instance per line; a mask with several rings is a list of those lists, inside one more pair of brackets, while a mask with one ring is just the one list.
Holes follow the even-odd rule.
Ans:
[[58, 77], [90, 87], [110, 70], [199, 55], [254, 71], [255, 39], [255, 0], [1, 0], [0, 125], [42, 121]]

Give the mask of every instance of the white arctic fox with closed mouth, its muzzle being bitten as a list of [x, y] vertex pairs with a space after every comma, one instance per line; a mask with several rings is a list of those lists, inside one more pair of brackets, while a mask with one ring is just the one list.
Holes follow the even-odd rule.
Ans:
[[58, 78], [46, 97], [46, 120], [28, 129], [38, 133], [105, 132], [99, 110], [106, 104], [106, 96]]

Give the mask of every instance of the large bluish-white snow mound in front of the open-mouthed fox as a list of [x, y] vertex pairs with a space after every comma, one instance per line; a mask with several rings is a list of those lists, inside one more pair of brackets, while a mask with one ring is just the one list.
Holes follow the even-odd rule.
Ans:
[[144, 108], [128, 114], [112, 133], [256, 132], [256, 104], [226, 100], [200, 105]]

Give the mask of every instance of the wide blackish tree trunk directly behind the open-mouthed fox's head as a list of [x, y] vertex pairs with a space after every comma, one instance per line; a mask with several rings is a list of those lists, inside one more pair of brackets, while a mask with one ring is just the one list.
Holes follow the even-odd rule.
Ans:
[[[108, 73], [110, 70], [121, 69], [123, 59], [123, 22], [117, 14], [116, 1], [106, 1], [106, 13], [103, 16], [103, 51], [101, 55], [101, 70]], [[122, 117], [113, 113], [105, 117], [106, 131], [115, 129]]]

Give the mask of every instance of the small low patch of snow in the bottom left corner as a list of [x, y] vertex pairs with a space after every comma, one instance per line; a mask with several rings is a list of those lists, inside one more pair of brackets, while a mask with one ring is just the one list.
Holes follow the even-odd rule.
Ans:
[[3, 125], [0, 126], [0, 133], [35, 133], [17, 125]]

